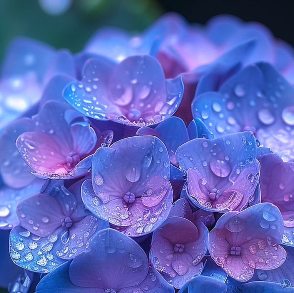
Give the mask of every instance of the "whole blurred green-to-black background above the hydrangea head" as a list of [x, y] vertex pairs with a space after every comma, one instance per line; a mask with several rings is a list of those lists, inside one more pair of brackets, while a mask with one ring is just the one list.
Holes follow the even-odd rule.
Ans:
[[[294, 45], [294, 1], [0, 0], [0, 61], [16, 36], [36, 38], [76, 53], [101, 26], [136, 33], [168, 11], [203, 24], [212, 16], [233, 14], [265, 24], [277, 38]], [[0, 254], [8, 254], [8, 243], [0, 244], [7, 247], [6, 251], [0, 249]], [[9, 279], [9, 272], [0, 271], [2, 276], [4, 273]], [[3, 292], [8, 291], [0, 288]]]

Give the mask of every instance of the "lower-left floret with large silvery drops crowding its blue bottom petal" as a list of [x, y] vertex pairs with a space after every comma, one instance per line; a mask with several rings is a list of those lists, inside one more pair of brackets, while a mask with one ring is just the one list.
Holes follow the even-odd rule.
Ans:
[[50, 272], [87, 250], [93, 235], [108, 227], [107, 222], [85, 212], [81, 184], [70, 188], [74, 195], [62, 181], [52, 182], [44, 193], [19, 203], [20, 225], [10, 233], [10, 255], [15, 264], [34, 272]]

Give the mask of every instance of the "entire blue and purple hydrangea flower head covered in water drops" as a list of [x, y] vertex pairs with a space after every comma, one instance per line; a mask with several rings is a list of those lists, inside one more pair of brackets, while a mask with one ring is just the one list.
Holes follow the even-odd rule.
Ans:
[[233, 16], [101, 28], [77, 54], [15, 40], [0, 78], [10, 292], [294, 292], [293, 83], [291, 46]]

